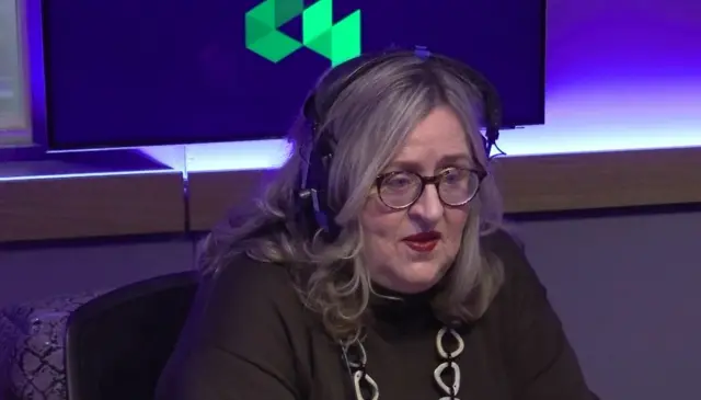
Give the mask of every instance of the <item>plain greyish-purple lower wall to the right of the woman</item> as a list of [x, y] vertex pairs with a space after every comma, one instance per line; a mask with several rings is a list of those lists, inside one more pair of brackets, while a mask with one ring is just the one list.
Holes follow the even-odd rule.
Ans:
[[701, 399], [701, 213], [528, 222], [521, 236], [601, 399]]

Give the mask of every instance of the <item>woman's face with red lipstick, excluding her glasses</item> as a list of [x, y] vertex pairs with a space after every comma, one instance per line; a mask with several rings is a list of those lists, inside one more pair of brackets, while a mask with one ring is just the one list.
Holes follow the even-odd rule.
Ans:
[[[450, 167], [469, 168], [471, 160], [457, 115], [448, 107], [437, 107], [409, 135], [382, 172], [433, 176]], [[372, 281], [406, 294], [430, 288], [455, 260], [467, 220], [468, 205], [444, 205], [435, 185], [426, 185], [412, 206], [399, 210], [384, 205], [374, 188], [360, 216], [363, 256]], [[411, 238], [417, 233], [424, 235]]]

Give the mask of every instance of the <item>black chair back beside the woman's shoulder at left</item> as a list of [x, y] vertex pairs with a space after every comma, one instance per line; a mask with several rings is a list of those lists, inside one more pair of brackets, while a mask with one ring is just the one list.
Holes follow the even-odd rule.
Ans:
[[189, 312], [199, 274], [117, 288], [72, 312], [66, 328], [69, 400], [152, 400]]

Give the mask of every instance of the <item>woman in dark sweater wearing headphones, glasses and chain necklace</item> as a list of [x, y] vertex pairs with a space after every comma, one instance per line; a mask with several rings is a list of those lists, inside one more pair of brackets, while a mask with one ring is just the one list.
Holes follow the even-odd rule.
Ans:
[[162, 400], [584, 400], [445, 57], [392, 52], [320, 81], [294, 151], [212, 272]]

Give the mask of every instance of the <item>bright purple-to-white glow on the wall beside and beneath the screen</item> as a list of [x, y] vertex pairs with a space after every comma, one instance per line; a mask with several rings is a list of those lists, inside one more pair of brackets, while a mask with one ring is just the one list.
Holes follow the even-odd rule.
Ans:
[[[701, 2], [551, 0], [548, 13], [545, 125], [504, 132], [504, 151], [701, 146]], [[276, 168], [284, 149], [280, 140], [188, 147], [187, 168]]]

